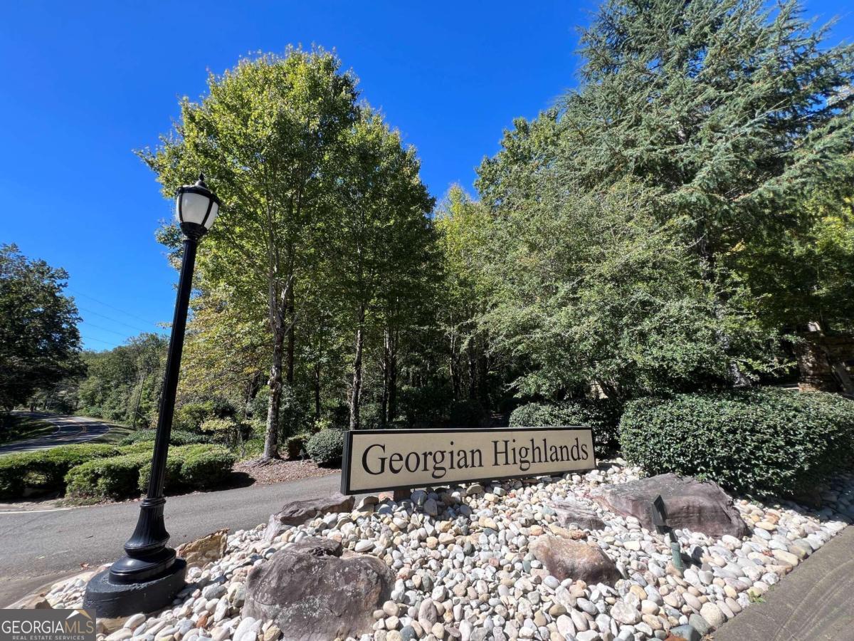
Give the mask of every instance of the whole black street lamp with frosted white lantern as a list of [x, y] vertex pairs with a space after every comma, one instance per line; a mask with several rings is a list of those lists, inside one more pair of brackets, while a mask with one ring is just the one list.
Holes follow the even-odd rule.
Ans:
[[172, 336], [163, 377], [149, 490], [139, 506], [137, 527], [125, 544], [125, 556], [114, 562], [108, 570], [98, 573], [86, 586], [83, 607], [94, 609], [99, 617], [153, 612], [171, 603], [175, 594], [184, 588], [187, 564], [183, 559], [175, 557], [175, 550], [167, 547], [169, 532], [163, 523], [163, 507], [166, 504], [163, 484], [175, 393], [178, 389], [178, 370], [181, 367], [181, 352], [184, 350], [184, 329], [187, 325], [196, 247], [218, 214], [219, 198], [205, 185], [204, 175], [199, 175], [196, 185], [185, 185], [178, 189], [175, 218], [184, 232], [184, 258], [181, 261]]

